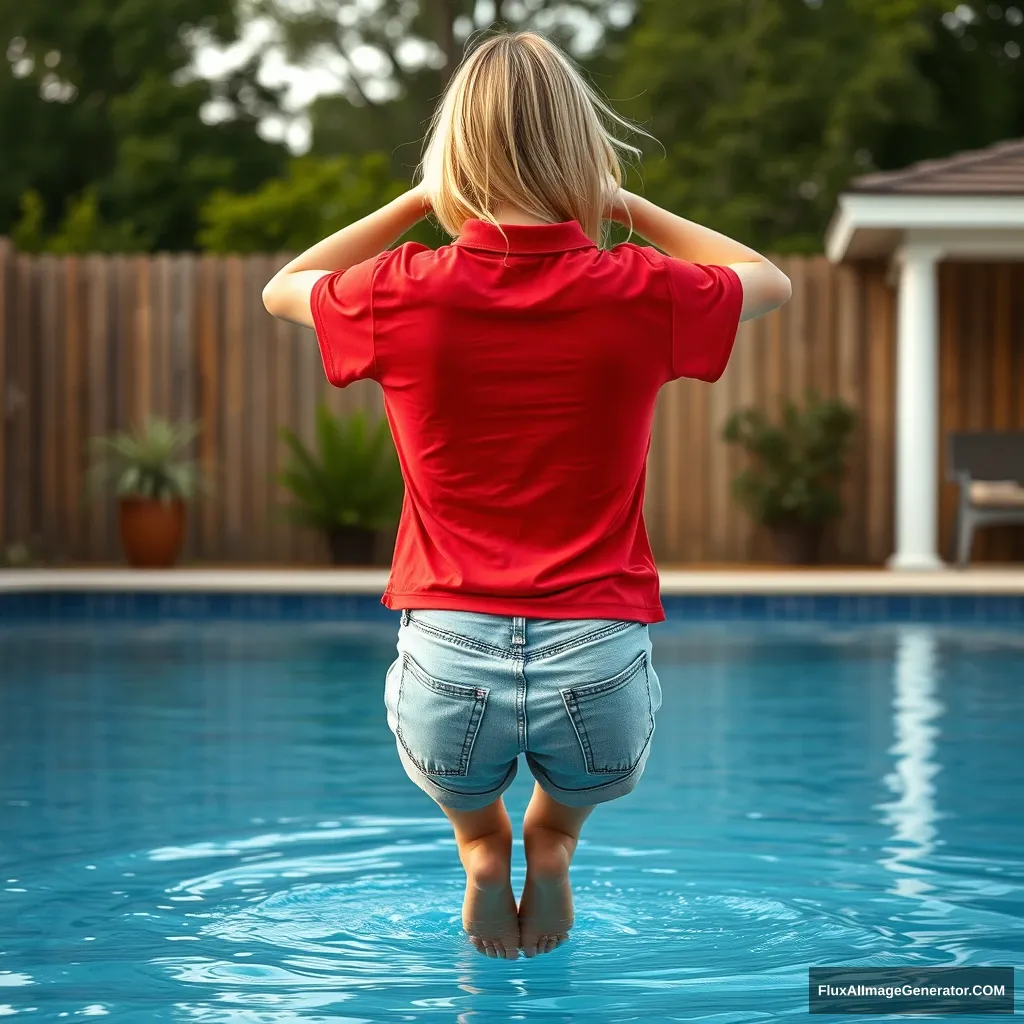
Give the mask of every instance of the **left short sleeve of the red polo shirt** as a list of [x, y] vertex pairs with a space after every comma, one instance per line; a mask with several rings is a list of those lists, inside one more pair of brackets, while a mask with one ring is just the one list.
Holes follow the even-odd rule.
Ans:
[[374, 378], [374, 271], [379, 256], [325, 274], [309, 305], [327, 379], [335, 387]]

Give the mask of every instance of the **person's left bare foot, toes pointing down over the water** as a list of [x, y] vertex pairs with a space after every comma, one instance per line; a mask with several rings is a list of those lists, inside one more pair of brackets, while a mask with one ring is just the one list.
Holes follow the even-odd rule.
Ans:
[[495, 959], [519, 955], [519, 919], [510, 879], [510, 853], [480, 844], [462, 852], [466, 901], [462, 925], [469, 941]]

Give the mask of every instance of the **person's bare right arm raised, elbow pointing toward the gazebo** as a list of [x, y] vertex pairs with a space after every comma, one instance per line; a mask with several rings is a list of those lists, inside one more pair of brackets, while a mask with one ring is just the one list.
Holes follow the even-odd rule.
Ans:
[[620, 190], [614, 217], [674, 259], [728, 266], [743, 287], [741, 321], [754, 319], [790, 301], [790, 279], [774, 263], [725, 234], [677, 217], [640, 196]]

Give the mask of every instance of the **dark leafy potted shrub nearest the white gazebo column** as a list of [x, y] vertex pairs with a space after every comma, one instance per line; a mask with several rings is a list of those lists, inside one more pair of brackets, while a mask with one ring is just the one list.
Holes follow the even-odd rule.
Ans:
[[736, 410], [723, 437], [752, 465], [733, 481], [736, 499], [772, 534], [779, 560], [816, 562], [825, 525], [843, 513], [840, 495], [856, 413], [808, 391], [803, 408], [782, 404], [771, 423], [759, 409]]

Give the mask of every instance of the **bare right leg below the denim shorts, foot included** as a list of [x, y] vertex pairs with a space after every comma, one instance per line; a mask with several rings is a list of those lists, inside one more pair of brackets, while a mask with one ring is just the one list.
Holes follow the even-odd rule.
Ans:
[[535, 784], [522, 819], [526, 884], [519, 901], [519, 944], [526, 956], [548, 953], [572, 927], [569, 864], [593, 807], [566, 807]]

